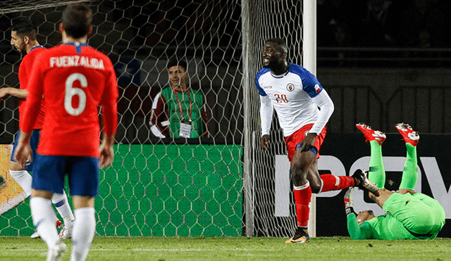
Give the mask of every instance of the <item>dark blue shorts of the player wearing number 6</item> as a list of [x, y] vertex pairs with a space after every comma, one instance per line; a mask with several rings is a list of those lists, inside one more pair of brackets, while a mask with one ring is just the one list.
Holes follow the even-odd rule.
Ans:
[[63, 193], [68, 174], [70, 194], [97, 196], [99, 158], [37, 154], [33, 168], [32, 189]]

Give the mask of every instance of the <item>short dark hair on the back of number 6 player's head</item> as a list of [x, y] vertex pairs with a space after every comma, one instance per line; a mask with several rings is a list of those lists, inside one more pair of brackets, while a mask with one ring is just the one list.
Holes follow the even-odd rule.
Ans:
[[79, 39], [89, 32], [92, 21], [92, 10], [87, 4], [69, 4], [63, 11], [63, 28], [69, 37]]

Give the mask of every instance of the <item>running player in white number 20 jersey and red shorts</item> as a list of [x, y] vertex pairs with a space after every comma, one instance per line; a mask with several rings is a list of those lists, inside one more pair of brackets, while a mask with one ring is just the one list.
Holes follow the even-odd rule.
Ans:
[[261, 103], [261, 146], [270, 148], [269, 131], [275, 109], [288, 148], [297, 214], [295, 235], [285, 242], [307, 243], [311, 193], [358, 186], [378, 195], [378, 188], [362, 172], [352, 177], [319, 175], [318, 152], [333, 113], [333, 102], [314, 75], [288, 63], [287, 53], [288, 47], [280, 38], [268, 39], [263, 46], [264, 68], [255, 77]]

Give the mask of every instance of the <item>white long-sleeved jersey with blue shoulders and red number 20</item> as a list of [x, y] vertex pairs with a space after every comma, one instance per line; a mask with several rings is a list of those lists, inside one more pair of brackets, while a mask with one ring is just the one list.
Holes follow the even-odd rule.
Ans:
[[284, 136], [311, 123], [311, 132], [319, 134], [333, 113], [332, 100], [308, 70], [293, 63], [288, 65], [284, 75], [273, 75], [271, 69], [263, 68], [255, 77], [261, 100], [262, 135], [269, 134], [273, 108]]

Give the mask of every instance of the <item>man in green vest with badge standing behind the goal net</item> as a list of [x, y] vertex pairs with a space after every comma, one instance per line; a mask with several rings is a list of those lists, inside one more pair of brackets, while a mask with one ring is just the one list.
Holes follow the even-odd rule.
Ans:
[[152, 104], [150, 129], [160, 138], [209, 137], [205, 96], [187, 83], [187, 63], [168, 61], [169, 86], [156, 94]]

